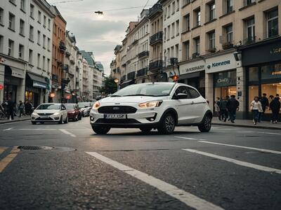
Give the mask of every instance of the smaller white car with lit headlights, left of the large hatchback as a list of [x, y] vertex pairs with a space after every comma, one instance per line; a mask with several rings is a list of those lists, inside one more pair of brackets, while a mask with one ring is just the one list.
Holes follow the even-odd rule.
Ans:
[[67, 110], [63, 104], [40, 104], [31, 115], [31, 122], [36, 123], [68, 123]]

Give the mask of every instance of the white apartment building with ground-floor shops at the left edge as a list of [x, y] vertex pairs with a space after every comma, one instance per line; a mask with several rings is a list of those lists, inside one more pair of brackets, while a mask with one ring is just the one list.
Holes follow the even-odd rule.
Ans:
[[[48, 101], [54, 15], [44, 0], [0, 1], [0, 99]], [[36, 30], [35, 30], [36, 29]]]

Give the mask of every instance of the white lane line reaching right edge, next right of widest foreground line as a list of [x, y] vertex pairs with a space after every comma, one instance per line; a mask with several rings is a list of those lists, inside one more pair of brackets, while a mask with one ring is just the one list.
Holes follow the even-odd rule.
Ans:
[[205, 152], [202, 152], [202, 151], [195, 151], [195, 150], [192, 150], [192, 149], [183, 149], [183, 151], [188, 151], [190, 153], [197, 153], [197, 154], [200, 154], [200, 155], [205, 155], [205, 156], [208, 156], [208, 157], [211, 157], [211, 158], [216, 158], [218, 160], [225, 160], [225, 161], [228, 161], [228, 162], [232, 162], [236, 165], [241, 165], [241, 166], [249, 167], [249, 168], [252, 168], [252, 169], [258, 169], [258, 170], [261, 170], [263, 172], [275, 172], [277, 174], [281, 174], [280, 169], [264, 167], [264, 166], [261, 166], [261, 165], [256, 165], [256, 164], [252, 164], [252, 163], [249, 163], [249, 162], [235, 160], [235, 159], [232, 159], [232, 158], [226, 158], [226, 157], [223, 157], [223, 156], [220, 156], [220, 155], [214, 155], [214, 154], [205, 153]]

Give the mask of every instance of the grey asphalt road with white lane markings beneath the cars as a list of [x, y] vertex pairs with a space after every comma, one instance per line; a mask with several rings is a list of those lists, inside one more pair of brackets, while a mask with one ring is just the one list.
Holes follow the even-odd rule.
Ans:
[[281, 209], [281, 131], [0, 125], [0, 209]]

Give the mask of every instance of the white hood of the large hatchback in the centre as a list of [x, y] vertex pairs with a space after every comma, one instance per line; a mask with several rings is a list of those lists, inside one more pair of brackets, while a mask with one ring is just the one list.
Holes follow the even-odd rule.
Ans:
[[148, 97], [148, 96], [131, 96], [131, 97], [106, 97], [101, 99], [99, 102], [100, 104], [122, 104], [122, 103], [143, 103], [143, 102], [150, 102], [159, 99], [160, 97]]

